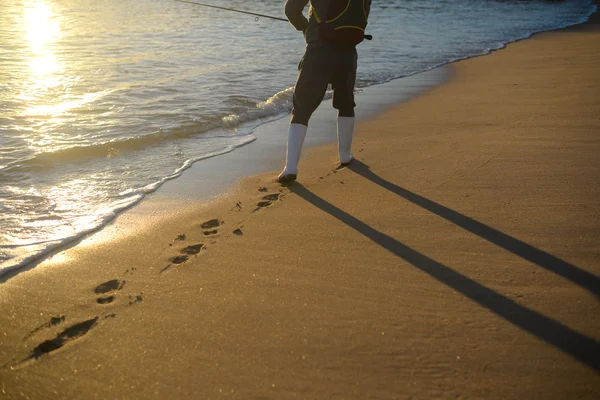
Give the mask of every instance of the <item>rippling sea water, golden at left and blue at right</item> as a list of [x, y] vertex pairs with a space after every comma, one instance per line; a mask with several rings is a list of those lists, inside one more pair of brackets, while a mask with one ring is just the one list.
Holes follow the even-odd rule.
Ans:
[[[283, 0], [205, 0], [283, 17]], [[357, 86], [585, 21], [591, 0], [374, 0]], [[0, 275], [291, 109], [302, 35], [172, 0], [0, 4]], [[282, 155], [283, 157], [283, 155]]]

